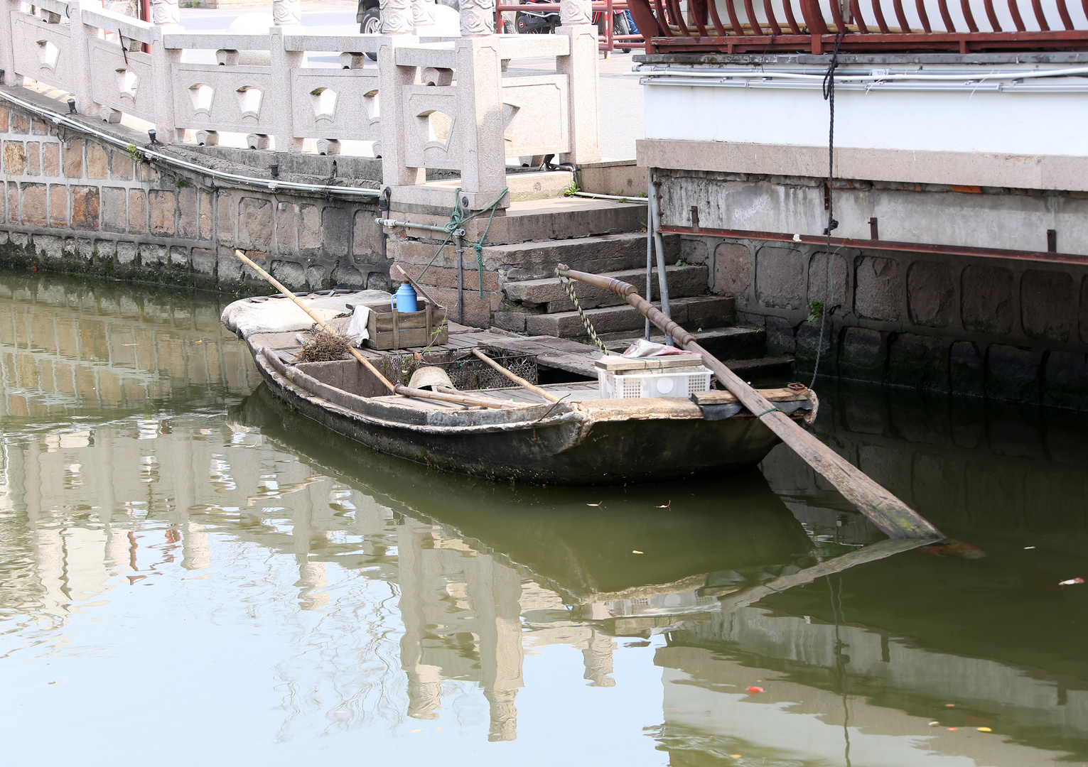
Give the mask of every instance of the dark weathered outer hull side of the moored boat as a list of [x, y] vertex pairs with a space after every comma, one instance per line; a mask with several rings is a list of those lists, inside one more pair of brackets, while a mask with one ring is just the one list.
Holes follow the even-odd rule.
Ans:
[[388, 455], [490, 480], [592, 485], [727, 477], [755, 467], [778, 443], [746, 412], [706, 420], [679, 398], [590, 400], [490, 425], [406, 423], [331, 401], [271, 355], [258, 351], [255, 360], [275, 396], [322, 426]]

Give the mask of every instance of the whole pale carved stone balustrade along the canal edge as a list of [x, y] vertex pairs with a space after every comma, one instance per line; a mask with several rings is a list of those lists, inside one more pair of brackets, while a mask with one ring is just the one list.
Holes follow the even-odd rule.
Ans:
[[[0, 0], [0, 69], [4, 85], [42, 83], [81, 114], [146, 121], [161, 141], [235, 133], [251, 148], [300, 151], [311, 139], [327, 154], [370, 141], [395, 202], [453, 207], [448, 184], [424, 180], [445, 169], [460, 173], [463, 207], [506, 207], [507, 158], [599, 160], [596, 30], [578, 12], [585, 0], [568, 3], [574, 23], [557, 35], [496, 35], [493, 0], [473, 0], [461, 36], [436, 38], [420, 36], [433, 28], [424, 0], [384, 3], [382, 35], [309, 34], [289, 0], [261, 34], [186, 32], [170, 0], [152, 2], [152, 22], [79, 0], [38, 0], [36, 13]], [[339, 53], [339, 66], [308, 65], [308, 52]], [[504, 73], [529, 57], [553, 59], [555, 72]]]

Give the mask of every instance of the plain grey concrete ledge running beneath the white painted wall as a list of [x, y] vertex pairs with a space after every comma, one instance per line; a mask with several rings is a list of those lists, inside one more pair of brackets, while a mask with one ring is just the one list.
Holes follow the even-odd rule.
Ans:
[[[639, 165], [827, 176], [827, 147], [641, 139]], [[1088, 158], [837, 147], [836, 176], [865, 181], [1088, 191]]]

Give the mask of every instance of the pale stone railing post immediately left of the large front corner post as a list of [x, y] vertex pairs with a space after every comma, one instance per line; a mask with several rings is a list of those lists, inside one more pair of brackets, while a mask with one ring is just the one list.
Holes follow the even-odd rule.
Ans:
[[381, 104], [382, 183], [415, 186], [426, 180], [422, 168], [405, 163], [404, 88], [419, 81], [416, 66], [397, 66], [397, 48], [418, 42], [412, 32], [411, 0], [381, 0], [382, 36], [378, 38], [378, 98]]

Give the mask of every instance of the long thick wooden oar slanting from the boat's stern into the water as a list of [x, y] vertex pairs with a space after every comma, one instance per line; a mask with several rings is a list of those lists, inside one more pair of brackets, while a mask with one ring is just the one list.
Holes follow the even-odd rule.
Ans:
[[703, 364], [714, 371], [718, 381], [770, 431], [792, 447], [808, 466], [814, 468], [842, 493], [846, 500], [891, 537], [943, 539], [944, 534], [922, 515], [869, 479], [861, 469], [799, 426], [793, 419], [776, 408], [766, 397], [744, 383], [739, 375], [721, 363], [714, 355], [695, 342], [695, 336], [665, 317], [640, 296], [636, 288], [626, 282], [586, 272], [576, 272], [560, 263], [559, 276], [578, 280], [588, 285], [611, 290], [638, 309], [643, 317], [657, 325], [679, 346], [703, 356]]

